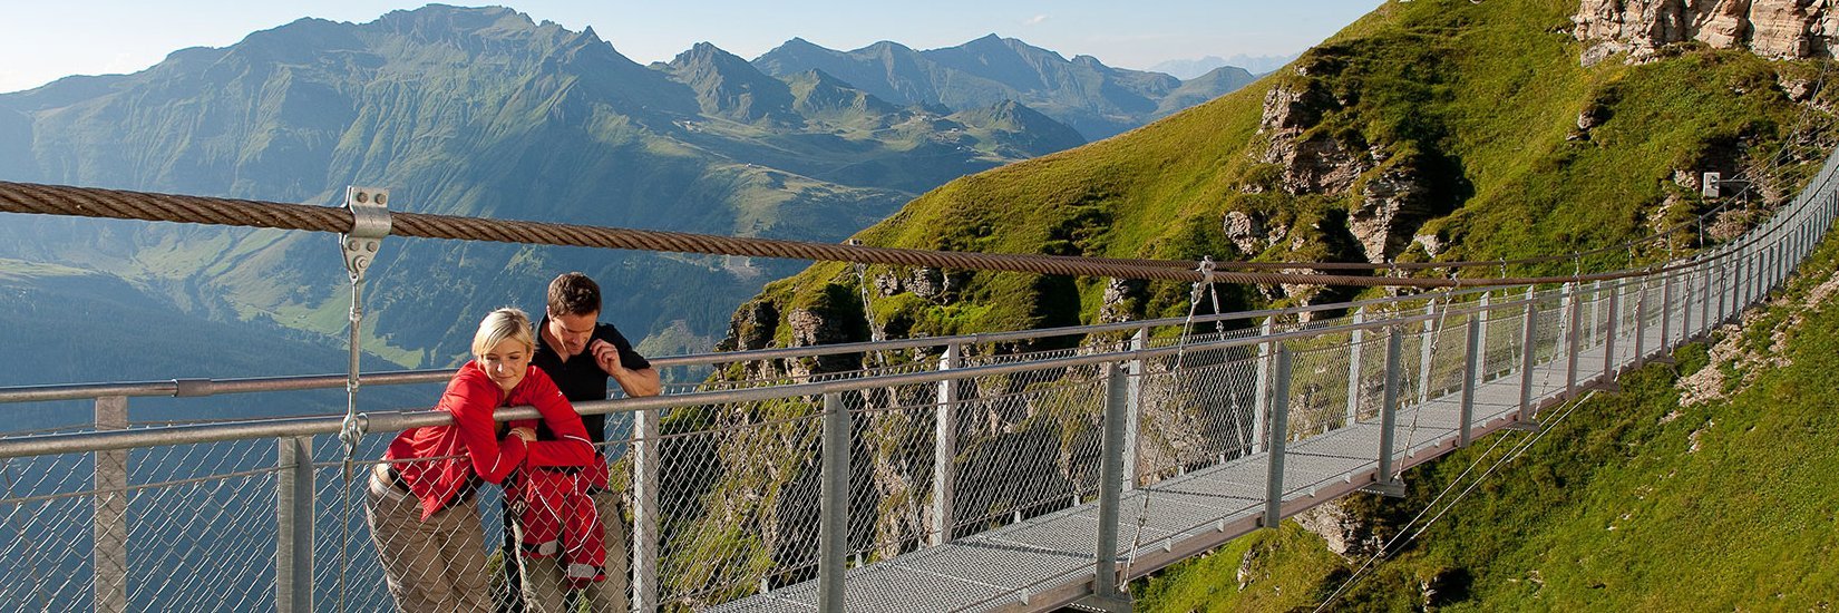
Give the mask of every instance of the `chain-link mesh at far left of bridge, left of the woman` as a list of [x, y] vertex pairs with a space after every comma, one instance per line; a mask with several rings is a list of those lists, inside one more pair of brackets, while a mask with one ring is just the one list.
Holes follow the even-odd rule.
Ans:
[[6, 460], [0, 607], [268, 606], [274, 464], [272, 440]]

